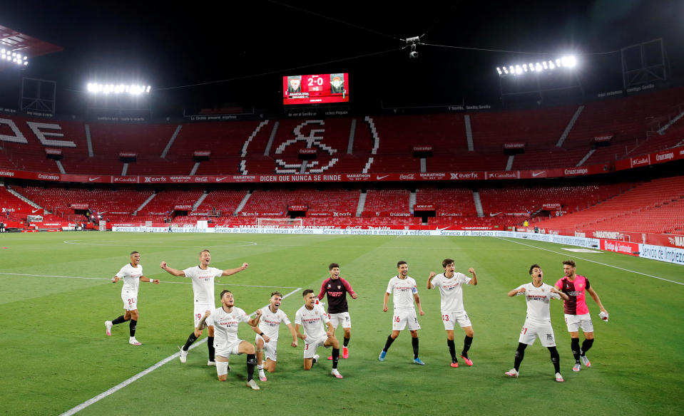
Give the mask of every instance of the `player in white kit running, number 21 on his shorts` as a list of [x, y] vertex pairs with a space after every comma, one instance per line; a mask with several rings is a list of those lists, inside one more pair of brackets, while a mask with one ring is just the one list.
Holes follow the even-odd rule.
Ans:
[[128, 331], [130, 338], [128, 343], [131, 345], [142, 345], [136, 339], [136, 327], [138, 326], [138, 287], [141, 281], [149, 281], [153, 284], [159, 284], [159, 279], [148, 279], [143, 276], [143, 266], [140, 264], [140, 253], [138, 251], [131, 251], [131, 262], [123, 266], [121, 270], [114, 275], [112, 283], [116, 283], [123, 279], [123, 288], [121, 288], [121, 300], [123, 301], [123, 315], [114, 318], [112, 321], [105, 321], [105, 329], [107, 335], [111, 336], [111, 328], [118, 323], [128, 323]]

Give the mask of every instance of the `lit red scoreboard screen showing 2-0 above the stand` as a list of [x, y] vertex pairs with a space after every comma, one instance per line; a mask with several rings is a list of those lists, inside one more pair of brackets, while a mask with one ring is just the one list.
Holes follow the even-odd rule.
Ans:
[[306, 105], [349, 103], [349, 73], [282, 77], [282, 103]]

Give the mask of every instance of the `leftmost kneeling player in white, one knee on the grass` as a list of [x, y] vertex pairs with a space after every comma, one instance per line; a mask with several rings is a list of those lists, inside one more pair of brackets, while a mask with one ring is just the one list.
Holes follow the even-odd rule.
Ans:
[[254, 345], [238, 339], [238, 324], [249, 323], [250, 326], [259, 325], [261, 311], [257, 310], [254, 318], [235, 306], [233, 293], [221, 292], [221, 307], [211, 313], [214, 323], [214, 348], [216, 350], [216, 374], [219, 381], [228, 378], [228, 359], [230, 354], [247, 354], [247, 386], [252, 390], [260, 390], [255, 383], [254, 366], [257, 362]]

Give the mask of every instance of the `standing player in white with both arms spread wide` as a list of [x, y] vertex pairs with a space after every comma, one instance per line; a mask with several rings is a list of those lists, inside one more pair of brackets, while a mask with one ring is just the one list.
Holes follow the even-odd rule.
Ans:
[[[195, 340], [202, 336], [203, 330], [198, 328], [198, 324], [205, 311], [213, 311], [216, 308], [216, 304], [214, 303], [214, 278], [236, 274], [239, 271], [247, 269], [247, 266], [249, 266], [247, 263], [243, 263], [242, 266], [235, 269], [221, 270], [210, 267], [210, 261], [211, 254], [209, 250], [202, 250], [200, 251], [200, 264], [198, 266], [188, 267], [188, 269], [185, 270], [176, 270], [170, 268], [165, 261], [162, 261], [160, 264], [160, 267], [169, 274], [178, 277], [188, 277], [193, 281], [193, 321], [195, 322], [195, 331], [190, 333], [188, 340], [185, 341], [185, 345], [180, 348], [181, 363], [185, 363], [190, 345], [193, 345]], [[207, 326], [209, 329], [209, 339], [207, 343], [209, 348], [209, 361], [207, 365], [216, 365], [214, 358], [214, 326], [211, 317], [207, 319]]]

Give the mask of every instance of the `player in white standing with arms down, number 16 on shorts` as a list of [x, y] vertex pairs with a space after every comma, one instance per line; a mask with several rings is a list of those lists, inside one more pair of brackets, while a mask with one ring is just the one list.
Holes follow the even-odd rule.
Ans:
[[418, 311], [423, 316], [423, 308], [420, 306], [420, 297], [418, 296], [418, 288], [416, 281], [409, 276], [409, 265], [406, 261], [399, 261], [397, 263], [397, 276], [389, 279], [387, 290], [384, 293], [384, 302], [382, 304], [382, 311], [387, 312], [387, 301], [389, 301], [389, 294], [392, 293], [394, 299], [394, 315], [392, 316], [392, 333], [387, 336], [387, 342], [384, 348], [380, 351], [378, 360], [384, 361], [387, 355], [387, 350], [392, 345], [395, 339], [399, 336], [399, 331], [404, 331], [404, 328], [409, 326], [411, 333], [411, 345], [413, 346], [413, 362], [418, 365], [425, 365], [420, 358], [418, 358], [418, 330], [420, 325], [418, 317], [416, 316], [416, 309], [413, 306], [414, 301], [418, 305]]

